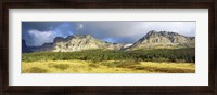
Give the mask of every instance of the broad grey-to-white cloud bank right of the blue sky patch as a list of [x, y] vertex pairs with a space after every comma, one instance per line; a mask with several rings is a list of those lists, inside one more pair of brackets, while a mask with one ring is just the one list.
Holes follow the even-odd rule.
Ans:
[[195, 22], [87, 22], [79, 33], [116, 43], [132, 43], [150, 30], [195, 36]]

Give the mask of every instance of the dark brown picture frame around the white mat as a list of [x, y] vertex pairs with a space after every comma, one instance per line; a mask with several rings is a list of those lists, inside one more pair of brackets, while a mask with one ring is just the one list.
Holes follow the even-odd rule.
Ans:
[[[217, 1], [215, 0], [3, 0], [0, 3], [0, 95], [124, 94], [124, 95], [217, 95]], [[9, 86], [9, 9], [208, 9], [208, 86]], [[200, 79], [199, 79], [200, 80]]]

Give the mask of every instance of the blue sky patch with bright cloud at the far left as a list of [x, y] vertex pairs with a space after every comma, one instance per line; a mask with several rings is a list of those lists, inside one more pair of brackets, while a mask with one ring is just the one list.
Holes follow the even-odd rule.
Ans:
[[67, 37], [74, 35], [74, 31], [69, 23], [24, 22], [22, 24], [22, 39], [26, 40], [29, 46], [52, 42], [55, 37]]

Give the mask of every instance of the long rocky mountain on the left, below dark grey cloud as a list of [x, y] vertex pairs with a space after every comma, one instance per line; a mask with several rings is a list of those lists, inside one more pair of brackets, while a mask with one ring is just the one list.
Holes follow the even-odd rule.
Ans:
[[125, 44], [105, 42], [91, 37], [90, 35], [68, 36], [66, 38], [56, 37], [53, 43], [44, 43], [37, 48], [35, 52], [74, 52], [81, 50], [120, 50]]

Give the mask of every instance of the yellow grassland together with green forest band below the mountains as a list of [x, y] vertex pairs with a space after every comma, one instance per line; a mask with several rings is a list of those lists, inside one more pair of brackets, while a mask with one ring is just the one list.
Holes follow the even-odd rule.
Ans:
[[22, 73], [195, 73], [194, 49], [22, 54]]

